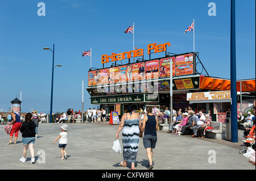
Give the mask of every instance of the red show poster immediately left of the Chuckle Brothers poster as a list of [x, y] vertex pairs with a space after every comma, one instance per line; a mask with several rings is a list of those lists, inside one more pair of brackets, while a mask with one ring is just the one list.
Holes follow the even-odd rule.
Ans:
[[159, 77], [159, 60], [147, 61], [145, 68], [146, 79], [154, 79]]

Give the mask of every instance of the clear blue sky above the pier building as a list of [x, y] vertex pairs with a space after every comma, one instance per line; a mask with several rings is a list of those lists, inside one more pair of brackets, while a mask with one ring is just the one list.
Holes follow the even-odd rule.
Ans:
[[[39, 2], [46, 5], [46, 16], [38, 16]], [[208, 15], [210, 2], [216, 4], [216, 16]], [[10, 101], [22, 91], [22, 112], [49, 113], [52, 52], [44, 47], [54, 43], [55, 65], [62, 65], [54, 70], [53, 112], [78, 111], [82, 79], [86, 88], [90, 67], [82, 51], [92, 48], [92, 67], [102, 68], [102, 54], [133, 49], [133, 34], [123, 31], [135, 23], [135, 47], [145, 51], [147, 44], [170, 42], [168, 52], [192, 52], [193, 32], [184, 31], [193, 19], [195, 51], [209, 75], [230, 78], [228, 0], [2, 0], [0, 112], [9, 110]], [[151, 58], [163, 56], [155, 53]], [[236, 1], [236, 60], [237, 79], [255, 78], [255, 1]], [[89, 97], [85, 90], [84, 110], [94, 107]]]

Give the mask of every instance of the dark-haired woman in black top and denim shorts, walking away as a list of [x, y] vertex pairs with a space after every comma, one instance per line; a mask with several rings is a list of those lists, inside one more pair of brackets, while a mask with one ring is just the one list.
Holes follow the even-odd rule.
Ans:
[[22, 133], [22, 143], [23, 143], [23, 157], [19, 159], [20, 162], [26, 161], [26, 154], [28, 146], [30, 147], [30, 153], [31, 153], [31, 163], [35, 163], [35, 150], [34, 150], [34, 144], [35, 144], [35, 128], [36, 125], [34, 121], [32, 121], [32, 114], [30, 112], [26, 113], [25, 121], [22, 124], [22, 127], [19, 129], [19, 131]]

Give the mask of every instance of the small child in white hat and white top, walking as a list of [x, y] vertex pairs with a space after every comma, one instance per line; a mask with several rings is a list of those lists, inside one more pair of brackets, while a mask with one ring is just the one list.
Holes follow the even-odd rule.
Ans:
[[[61, 159], [67, 159], [68, 158], [68, 154], [67, 151], [65, 150], [66, 146], [67, 146], [67, 141], [68, 141], [68, 125], [67, 124], [63, 124], [60, 127], [61, 129], [61, 133], [59, 134], [59, 136], [56, 138], [56, 140], [54, 140], [52, 143], [54, 144], [57, 140], [60, 139], [59, 141], [59, 148], [60, 148], [60, 153], [61, 153]], [[65, 157], [64, 157], [65, 154]]]

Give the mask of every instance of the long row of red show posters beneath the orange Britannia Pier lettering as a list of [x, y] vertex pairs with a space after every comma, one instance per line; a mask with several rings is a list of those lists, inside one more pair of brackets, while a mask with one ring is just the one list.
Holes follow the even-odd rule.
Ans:
[[[92, 70], [88, 72], [88, 86], [114, 85], [116, 83], [170, 78], [171, 67], [172, 77], [195, 74], [194, 54], [177, 54], [172, 57]], [[192, 87], [189, 81], [185, 83], [177, 82], [178, 89], [183, 89], [184, 86]], [[112, 89], [110, 88], [110, 91]]]

